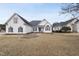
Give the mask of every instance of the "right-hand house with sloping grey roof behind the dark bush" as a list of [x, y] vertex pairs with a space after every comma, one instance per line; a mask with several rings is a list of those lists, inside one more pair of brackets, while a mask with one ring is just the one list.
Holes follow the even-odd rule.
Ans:
[[68, 21], [65, 22], [60, 22], [60, 23], [54, 23], [53, 24], [53, 31], [60, 31], [62, 27], [66, 26], [66, 27], [70, 27], [71, 28], [71, 32], [75, 32], [75, 22], [77, 22], [78, 19], [77, 18], [73, 18], [70, 19]]

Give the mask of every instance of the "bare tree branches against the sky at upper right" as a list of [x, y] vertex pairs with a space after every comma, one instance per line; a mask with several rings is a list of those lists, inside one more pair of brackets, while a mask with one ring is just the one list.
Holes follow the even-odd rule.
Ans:
[[63, 4], [61, 14], [71, 14], [74, 18], [79, 17], [79, 3]]

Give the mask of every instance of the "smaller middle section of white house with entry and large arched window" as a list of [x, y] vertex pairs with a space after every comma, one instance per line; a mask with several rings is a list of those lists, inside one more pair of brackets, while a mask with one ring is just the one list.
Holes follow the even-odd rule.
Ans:
[[52, 25], [46, 19], [43, 19], [42, 21], [31, 21], [30, 24], [32, 25], [34, 32], [52, 32]]

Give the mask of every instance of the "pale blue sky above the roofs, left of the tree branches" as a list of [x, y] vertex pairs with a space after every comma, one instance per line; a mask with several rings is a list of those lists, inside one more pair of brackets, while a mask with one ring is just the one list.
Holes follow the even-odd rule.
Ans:
[[60, 3], [0, 3], [0, 24], [4, 24], [14, 13], [27, 21], [46, 19], [51, 24], [66, 21], [69, 15], [61, 15]]

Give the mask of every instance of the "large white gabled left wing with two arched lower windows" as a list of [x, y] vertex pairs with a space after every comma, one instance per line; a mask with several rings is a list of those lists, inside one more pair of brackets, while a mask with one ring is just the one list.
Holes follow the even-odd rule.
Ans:
[[5, 25], [7, 34], [26, 34], [33, 32], [30, 23], [17, 13], [14, 13]]

